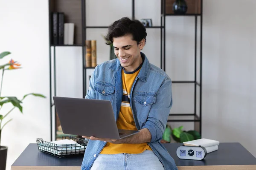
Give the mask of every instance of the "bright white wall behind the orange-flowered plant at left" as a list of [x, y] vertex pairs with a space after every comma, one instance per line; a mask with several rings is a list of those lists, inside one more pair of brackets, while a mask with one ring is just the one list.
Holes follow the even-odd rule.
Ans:
[[[47, 8], [46, 0], [0, 1], [0, 51], [12, 52], [0, 64], [12, 58], [22, 67], [5, 71], [2, 96], [21, 99], [30, 92], [47, 96], [47, 99], [28, 96], [22, 104], [23, 114], [15, 109], [8, 116], [13, 120], [3, 128], [1, 139], [1, 145], [8, 146], [6, 170], [36, 138], [50, 139]], [[11, 108], [12, 105], [4, 105], [1, 114]]]

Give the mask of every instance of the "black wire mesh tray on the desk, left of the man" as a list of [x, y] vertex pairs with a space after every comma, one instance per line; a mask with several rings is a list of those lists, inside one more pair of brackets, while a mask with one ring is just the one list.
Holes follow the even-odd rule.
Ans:
[[44, 153], [49, 153], [59, 158], [65, 158], [76, 155], [83, 155], [87, 147], [87, 140], [76, 138], [73, 136], [63, 136], [62, 139], [72, 140], [74, 144], [54, 144], [46, 142], [42, 138], [36, 139], [38, 150]]

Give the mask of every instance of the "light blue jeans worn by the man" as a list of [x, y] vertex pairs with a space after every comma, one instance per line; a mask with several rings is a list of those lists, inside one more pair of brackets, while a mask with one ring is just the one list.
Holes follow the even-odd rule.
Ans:
[[90, 170], [164, 170], [151, 150], [139, 154], [99, 154]]

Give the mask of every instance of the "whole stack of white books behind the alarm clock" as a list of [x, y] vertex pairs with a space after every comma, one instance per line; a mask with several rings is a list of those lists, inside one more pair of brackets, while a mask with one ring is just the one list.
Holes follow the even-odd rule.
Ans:
[[207, 153], [211, 153], [215, 150], [218, 150], [219, 141], [211, 139], [197, 139], [193, 141], [183, 142], [185, 146], [202, 146], [206, 149]]

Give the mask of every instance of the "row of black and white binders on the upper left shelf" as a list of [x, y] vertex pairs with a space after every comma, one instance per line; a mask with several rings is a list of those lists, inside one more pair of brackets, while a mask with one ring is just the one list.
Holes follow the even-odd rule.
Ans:
[[64, 23], [63, 12], [52, 13], [52, 44], [73, 45], [74, 44], [74, 23]]

